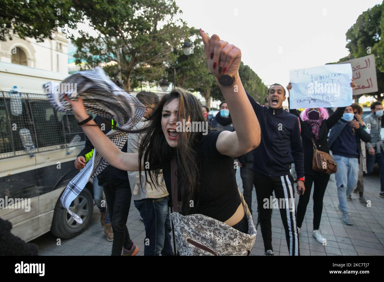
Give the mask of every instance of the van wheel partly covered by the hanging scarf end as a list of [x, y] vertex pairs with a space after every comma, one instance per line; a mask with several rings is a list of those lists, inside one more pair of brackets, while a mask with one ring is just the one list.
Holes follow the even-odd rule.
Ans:
[[93, 197], [88, 189], [84, 188], [80, 195], [73, 200], [70, 211], [77, 214], [83, 220], [83, 223], [76, 222], [59, 199], [56, 203], [51, 226], [51, 233], [58, 238], [70, 239], [76, 237], [88, 227], [93, 213]]

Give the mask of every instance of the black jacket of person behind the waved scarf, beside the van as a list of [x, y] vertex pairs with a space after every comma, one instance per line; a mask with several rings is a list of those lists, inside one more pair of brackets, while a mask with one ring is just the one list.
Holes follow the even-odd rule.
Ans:
[[[103, 119], [99, 115], [96, 115], [96, 117], [93, 119], [97, 124], [105, 124], [104, 130], [101, 128], [101, 131], [104, 132], [104, 134], [107, 134], [111, 130], [111, 124], [112, 120], [111, 119]], [[106, 120], [106, 121], [105, 121]], [[93, 150], [94, 146], [92, 145], [91, 141], [86, 137], [86, 142], [84, 149], [81, 150], [79, 153], [79, 156], [85, 157], [85, 155], [91, 150]], [[121, 152], [127, 152], [127, 142], [124, 144], [124, 147], [121, 149]], [[110, 186], [114, 184], [119, 184], [121, 182], [126, 182], [127, 185], [129, 186], [129, 178], [128, 178], [128, 173], [124, 170], [119, 170], [118, 168], [115, 168], [111, 165], [108, 165], [103, 172], [101, 172], [97, 176], [99, 180], [99, 185], [100, 186]]]

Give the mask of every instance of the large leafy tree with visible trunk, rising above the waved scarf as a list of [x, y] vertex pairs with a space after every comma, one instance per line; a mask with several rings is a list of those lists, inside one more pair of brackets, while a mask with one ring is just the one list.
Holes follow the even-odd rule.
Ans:
[[[142, 81], [159, 81], [174, 46], [187, 36], [185, 23], [177, 21], [174, 0], [93, 0], [92, 8], [78, 7], [97, 36], [80, 31], [70, 36], [77, 47], [75, 63], [104, 65], [104, 71], [124, 81], [130, 91]], [[180, 26], [181, 25], [181, 26]]]

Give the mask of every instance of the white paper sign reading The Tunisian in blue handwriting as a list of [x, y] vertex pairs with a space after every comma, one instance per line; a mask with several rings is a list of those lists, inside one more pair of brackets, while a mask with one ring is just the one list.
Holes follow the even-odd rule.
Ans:
[[290, 108], [345, 107], [352, 104], [350, 64], [327, 64], [289, 72]]

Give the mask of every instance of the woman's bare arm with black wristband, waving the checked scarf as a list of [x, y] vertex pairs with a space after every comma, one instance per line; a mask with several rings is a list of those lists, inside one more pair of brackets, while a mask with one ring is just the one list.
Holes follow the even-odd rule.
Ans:
[[[71, 101], [68, 97], [65, 97], [65, 99], [71, 104], [74, 116], [79, 122], [89, 117], [81, 97], [79, 97], [77, 101]], [[89, 122], [82, 125], [82, 128], [100, 155], [113, 167], [126, 171], [138, 171], [139, 154], [121, 152], [99, 127], [95, 125], [96, 123], [93, 120], [89, 120]]]

